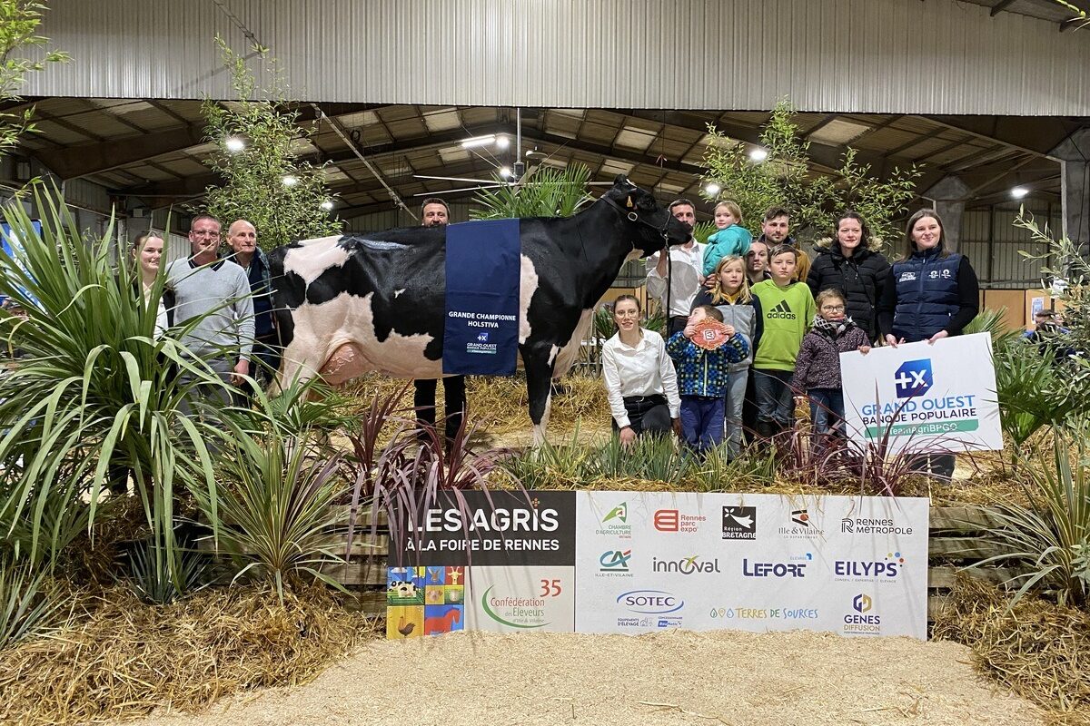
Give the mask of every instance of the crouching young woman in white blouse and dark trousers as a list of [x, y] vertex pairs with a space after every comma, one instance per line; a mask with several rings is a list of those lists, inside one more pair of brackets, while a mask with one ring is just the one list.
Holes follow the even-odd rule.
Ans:
[[614, 302], [617, 334], [602, 347], [602, 374], [620, 442], [641, 433], [680, 431], [681, 398], [677, 373], [663, 336], [640, 327], [640, 302], [621, 295]]

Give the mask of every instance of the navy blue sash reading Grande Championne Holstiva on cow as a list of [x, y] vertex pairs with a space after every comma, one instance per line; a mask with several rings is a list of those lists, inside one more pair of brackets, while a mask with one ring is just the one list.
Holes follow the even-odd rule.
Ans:
[[447, 226], [444, 373], [514, 374], [520, 254], [517, 219]]

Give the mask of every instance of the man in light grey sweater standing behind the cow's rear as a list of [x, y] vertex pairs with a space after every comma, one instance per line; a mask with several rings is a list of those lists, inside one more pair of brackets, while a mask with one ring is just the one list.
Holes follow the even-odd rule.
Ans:
[[[177, 299], [175, 324], [204, 316], [182, 344], [225, 381], [240, 385], [250, 372], [254, 305], [246, 273], [234, 262], [219, 259], [219, 220], [210, 214], [195, 217], [190, 223], [192, 256], [171, 262], [167, 280]], [[227, 402], [222, 392], [213, 395]]]

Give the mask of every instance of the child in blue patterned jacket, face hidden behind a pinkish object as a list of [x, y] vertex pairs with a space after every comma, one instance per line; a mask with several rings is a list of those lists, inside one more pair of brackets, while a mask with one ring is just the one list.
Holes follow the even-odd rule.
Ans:
[[727, 391], [730, 364], [749, 355], [749, 343], [732, 325], [726, 325], [727, 340], [711, 350], [692, 342], [695, 325], [704, 318], [723, 322], [714, 306], [693, 308], [685, 330], [666, 343], [666, 353], [677, 361], [678, 391], [681, 394], [681, 433], [697, 454], [723, 443], [723, 401]]

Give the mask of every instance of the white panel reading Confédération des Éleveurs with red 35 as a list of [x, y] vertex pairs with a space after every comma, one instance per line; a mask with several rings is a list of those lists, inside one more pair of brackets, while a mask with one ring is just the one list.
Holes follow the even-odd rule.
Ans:
[[489, 632], [572, 632], [576, 568], [471, 567], [469, 628]]

